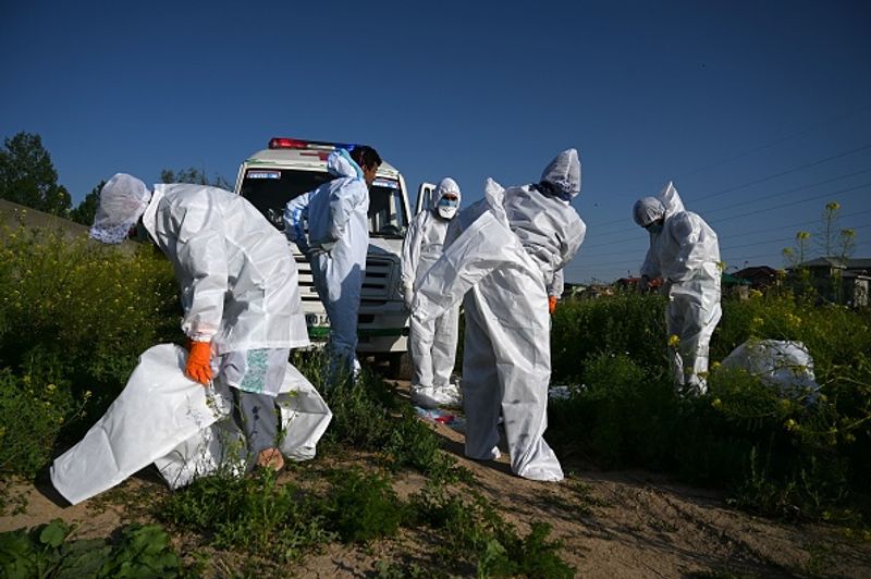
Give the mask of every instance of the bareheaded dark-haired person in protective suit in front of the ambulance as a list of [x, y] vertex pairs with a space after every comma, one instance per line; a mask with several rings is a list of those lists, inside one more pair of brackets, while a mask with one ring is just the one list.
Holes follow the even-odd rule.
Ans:
[[357, 146], [351, 153], [336, 149], [327, 159], [334, 178], [291, 199], [284, 210], [284, 233], [308, 257], [330, 319], [330, 385], [360, 368], [357, 315], [369, 250], [369, 186], [380, 165], [371, 147]]

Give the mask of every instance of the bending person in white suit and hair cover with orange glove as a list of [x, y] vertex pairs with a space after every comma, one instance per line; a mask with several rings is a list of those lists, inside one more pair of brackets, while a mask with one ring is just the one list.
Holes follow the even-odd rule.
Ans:
[[119, 173], [100, 192], [90, 237], [121, 243], [137, 223], [181, 284], [185, 373], [231, 386], [253, 461], [280, 470], [274, 399], [291, 348], [309, 344], [286, 242], [238, 195], [184, 183], [156, 185], [152, 194]]

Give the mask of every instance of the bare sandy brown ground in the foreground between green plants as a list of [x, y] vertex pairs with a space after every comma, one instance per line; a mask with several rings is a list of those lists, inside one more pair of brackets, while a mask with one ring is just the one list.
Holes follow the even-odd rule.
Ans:
[[[711, 491], [676, 484], [643, 471], [598, 472], [564, 464], [561, 483], [538, 483], [511, 475], [507, 457], [476, 463], [463, 457], [463, 435], [434, 424], [444, 448], [473, 471], [476, 488], [522, 532], [535, 520], [550, 522], [552, 538], [563, 541], [563, 558], [578, 577], [869, 577], [871, 543], [852, 540], [843, 530], [821, 525], [787, 525], [728, 508]], [[397, 492], [422, 486], [422, 477], [401, 477]], [[130, 492], [133, 491], [133, 492]], [[46, 496], [45, 486], [12, 484], [7, 496], [26, 498], [19, 514], [0, 516], [0, 530], [62, 518], [76, 522], [76, 537], [108, 537], [132, 520], [147, 520], [142, 505], [163, 491], [144, 471], [112, 490], [63, 508]], [[287, 569], [299, 577], [366, 577], [379, 560], [426, 562], [428, 537], [406, 530], [395, 540], [368, 547], [333, 544]], [[184, 552], [186, 545], [179, 544]], [[226, 554], [211, 557], [210, 572], [224, 576]]]

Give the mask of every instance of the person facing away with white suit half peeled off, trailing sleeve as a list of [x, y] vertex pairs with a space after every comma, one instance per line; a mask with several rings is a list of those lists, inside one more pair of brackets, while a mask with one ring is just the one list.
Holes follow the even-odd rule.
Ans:
[[538, 183], [505, 190], [488, 180], [484, 199], [454, 219], [413, 305], [412, 332], [426, 333], [429, 319], [464, 299], [466, 456], [500, 456], [501, 414], [512, 471], [531, 480], [563, 479], [543, 439], [551, 375], [545, 285], [584, 241], [587, 227], [571, 205], [579, 192], [575, 149], [551, 161]]

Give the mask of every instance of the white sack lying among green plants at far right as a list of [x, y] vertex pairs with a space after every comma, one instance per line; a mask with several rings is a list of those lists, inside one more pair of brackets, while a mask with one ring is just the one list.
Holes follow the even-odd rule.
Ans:
[[812, 394], [820, 385], [813, 375], [813, 358], [801, 342], [748, 340], [726, 356], [724, 368], [741, 368], [783, 394]]

